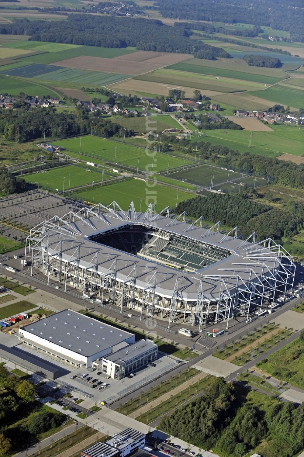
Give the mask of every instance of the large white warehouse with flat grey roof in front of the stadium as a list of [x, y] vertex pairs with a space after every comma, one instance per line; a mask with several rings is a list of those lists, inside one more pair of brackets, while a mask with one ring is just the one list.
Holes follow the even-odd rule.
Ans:
[[19, 335], [26, 343], [86, 367], [135, 340], [132, 333], [70, 309], [21, 327]]

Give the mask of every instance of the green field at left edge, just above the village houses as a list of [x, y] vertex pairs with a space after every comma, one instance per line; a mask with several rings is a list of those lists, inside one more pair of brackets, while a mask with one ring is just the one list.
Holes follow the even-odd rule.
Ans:
[[19, 95], [20, 92], [26, 92], [30, 96], [44, 96], [57, 97], [58, 94], [46, 86], [33, 83], [29, 80], [23, 80], [14, 76], [5, 76], [0, 74], [0, 87], [2, 93], [9, 93], [11, 95]]

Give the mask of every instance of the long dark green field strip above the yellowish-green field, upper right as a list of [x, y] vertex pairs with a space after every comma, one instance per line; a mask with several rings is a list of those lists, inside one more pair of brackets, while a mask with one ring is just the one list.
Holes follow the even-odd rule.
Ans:
[[275, 84], [282, 80], [282, 78], [277, 78], [275, 76], [264, 76], [262, 74], [245, 73], [243, 71], [225, 70], [221, 68], [191, 65], [190, 61], [187, 64], [173, 64], [169, 67], [166, 67], [166, 69], [181, 70], [185, 72], [187, 71], [200, 74], [212, 74], [214, 76], [224, 76], [225, 78], [233, 78], [235, 80], [243, 81], [253, 81], [262, 84]]

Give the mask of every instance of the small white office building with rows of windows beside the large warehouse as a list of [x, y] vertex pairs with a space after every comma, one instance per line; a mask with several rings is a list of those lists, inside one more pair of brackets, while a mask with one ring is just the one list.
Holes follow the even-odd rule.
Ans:
[[102, 372], [114, 379], [125, 375], [156, 360], [158, 346], [149, 340], [141, 340], [102, 359]]

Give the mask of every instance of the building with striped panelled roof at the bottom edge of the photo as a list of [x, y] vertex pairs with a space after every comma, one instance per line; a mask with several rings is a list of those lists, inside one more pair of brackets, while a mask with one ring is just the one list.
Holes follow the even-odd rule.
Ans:
[[81, 452], [85, 457], [126, 457], [140, 447], [144, 446], [146, 436], [144, 433], [127, 428], [116, 433], [110, 440], [102, 443], [99, 441]]

